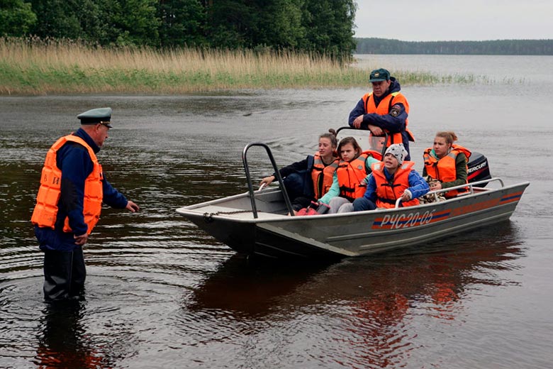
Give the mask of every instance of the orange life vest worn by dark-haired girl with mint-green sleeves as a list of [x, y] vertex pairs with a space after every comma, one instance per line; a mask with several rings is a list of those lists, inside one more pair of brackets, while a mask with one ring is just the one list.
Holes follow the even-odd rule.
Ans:
[[369, 155], [362, 153], [357, 159], [350, 162], [340, 160], [336, 169], [338, 184], [340, 184], [340, 196], [353, 201], [358, 197], [363, 197], [367, 190], [367, 184], [361, 184], [367, 177], [367, 168], [365, 161]]

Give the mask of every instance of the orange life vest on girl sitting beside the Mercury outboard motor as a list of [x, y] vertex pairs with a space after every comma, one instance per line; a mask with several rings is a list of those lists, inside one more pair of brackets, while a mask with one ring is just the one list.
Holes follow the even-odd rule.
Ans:
[[[457, 160], [457, 155], [459, 155], [459, 153], [464, 153], [464, 155], [467, 157], [467, 161], [471, 156], [470, 150], [455, 144], [452, 145], [449, 153], [441, 159], [438, 159], [434, 155], [431, 155], [431, 152], [432, 148], [427, 148], [425, 150], [425, 153], [423, 154], [423, 158], [425, 160], [426, 174], [430, 175], [430, 177], [434, 178], [435, 180], [439, 180], [440, 182], [452, 182], [457, 179], [455, 161]], [[450, 197], [457, 196], [457, 194], [461, 192], [467, 192], [467, 189], [452, 189], [451, 191], [445, 192], [444, 195], [449, 199]]]

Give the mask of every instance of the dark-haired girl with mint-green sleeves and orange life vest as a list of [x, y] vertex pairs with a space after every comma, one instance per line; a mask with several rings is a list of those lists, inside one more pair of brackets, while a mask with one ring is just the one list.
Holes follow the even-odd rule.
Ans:
[[340, 162], [334, 172], [333, 184], [318, 202], [328, 204], [329, 214], [353, 210], [352, 202], [363, 197], [367, 184], [365, 177], [371, 172], [373, 163], [380, 163], [370, 151], [362, 152], [353, 137], [340, 140], [337, 148]]

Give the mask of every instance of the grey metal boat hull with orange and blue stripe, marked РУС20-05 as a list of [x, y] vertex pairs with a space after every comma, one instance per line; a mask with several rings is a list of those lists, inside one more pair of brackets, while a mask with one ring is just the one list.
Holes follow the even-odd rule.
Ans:
[[444, 202], [346, 214], [286, 216], [280, 190], [248, 193], [177, 209], [238, 253], [269, 258], [343, 258], [424, 245], [510, 218], [529, 183], [475, 188]]

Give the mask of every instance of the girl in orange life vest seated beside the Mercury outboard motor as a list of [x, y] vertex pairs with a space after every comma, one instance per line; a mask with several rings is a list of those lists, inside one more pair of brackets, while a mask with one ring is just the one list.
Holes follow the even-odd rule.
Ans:
[[[430, 182], [430, 191], [468, 183], [467, 163], [471, 152], [455, 145], [454, 141], [457, 141], [454, 132], [438, 132], [433, 147], [427, 148], [423, 154], [423, 177], [428, 175], [434, 179]], [[461, 192], [467, 192], [467, 189], [452, 189], [445, 192], [445, 197], [455, 197]]]

